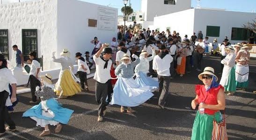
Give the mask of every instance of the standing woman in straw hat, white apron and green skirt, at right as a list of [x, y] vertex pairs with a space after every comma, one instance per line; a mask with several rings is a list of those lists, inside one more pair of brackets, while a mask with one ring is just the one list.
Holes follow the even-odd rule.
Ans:
[[236, 91], [235, 87], [235, 54], [234, 48], [229, 46], [225, 49], [227, 56], [221, 60], [221, 64], [224, 64], [221, 80], [219, 84], [225, 88], [225, 92], [228, 92], [227, 95], [233, 95]]

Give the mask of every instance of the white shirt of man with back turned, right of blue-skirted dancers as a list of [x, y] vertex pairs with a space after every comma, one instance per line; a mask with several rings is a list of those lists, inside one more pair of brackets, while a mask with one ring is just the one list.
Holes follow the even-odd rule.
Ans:
[[153, 60], [153, 69], [156, 70], [158, 75], [170, 76], [170, 63], [173, 61], [173, 57], [167, 54], [163, 59], [159, 55], [156, 55]]

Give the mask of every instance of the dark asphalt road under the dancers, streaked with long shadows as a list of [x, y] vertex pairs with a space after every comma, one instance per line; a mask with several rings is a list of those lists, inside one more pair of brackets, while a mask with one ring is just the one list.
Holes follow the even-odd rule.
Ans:
[[[204, 57], [203, 66], [220, 69], [218, 57]], [[256, 60], [251, 60], [249, 91], [255, 90]], [[30, 118], [22, 118], [22, 113], [34, 105], [29, 104], [30, 93], [19, 94], [19, 104], [11, 113], [17, 130], [7, 132], [0, 140], [190, 140], [196, 111], [190, 109], [195, 97], [194, 86], [201, 84], [198, 72], [190, 75], [176, 76], [171, 80], [167, 109], [157, 106], [159, 94], [139, 107], [136, 113], [120, 113], [119, 106], [108, 106], [106, 117], [97, 122], [95, 101], [95, 80], [89, 79], [88, 93], [80, 93], [71, 98], [60, 99], [64, 107], [73, 109], [74, 113], [68, 125], [62, 131], [45, 137], [38, 135], [44, 130], [36, 127]], [[218, 75], [220, 79], [221, 75]], [[256, 94], [237, 91], [235, 96], [226, 95], [225, 117], [229, 140], [256, 140]]]

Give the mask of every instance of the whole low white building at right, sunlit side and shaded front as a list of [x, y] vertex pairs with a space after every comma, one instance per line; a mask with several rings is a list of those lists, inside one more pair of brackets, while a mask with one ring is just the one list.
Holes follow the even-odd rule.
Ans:
[[190, 38], [194, 32], [197, 35], [202, 31], [210, 42], [216, 38], [221, 43], [227, 36], [234, 44], [249, 38], [250, 31], [242, 26], [255, 17], [256, 13], [196, 8], [155, 17], [154, 28], [159, 31], [169, 28], [171, 33], [176, 30], [182, 38], [185, 34]]

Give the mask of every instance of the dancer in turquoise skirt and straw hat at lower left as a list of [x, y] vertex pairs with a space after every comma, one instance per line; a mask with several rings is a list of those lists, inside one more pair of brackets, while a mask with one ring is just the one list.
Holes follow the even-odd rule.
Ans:
[[61, 104], [54, 99], [52, 76], [45, 74], [45, 76], [40, 77], [42, 78], [43, 89], [40, 91], [38, 88], [35, 93], [38, 98], [40, 97], [41, 102], [24, 112], [22, 117], [30, 117], [37, 122], [37, 126], [44, 127], [44, 131], [39, 136], [45, 136], [51, 133], [48, 125], [57, 125], [55, 133], [59, 133], [62, 128], [60, 123], [67, 124], [73, 110], [61, 107]]

